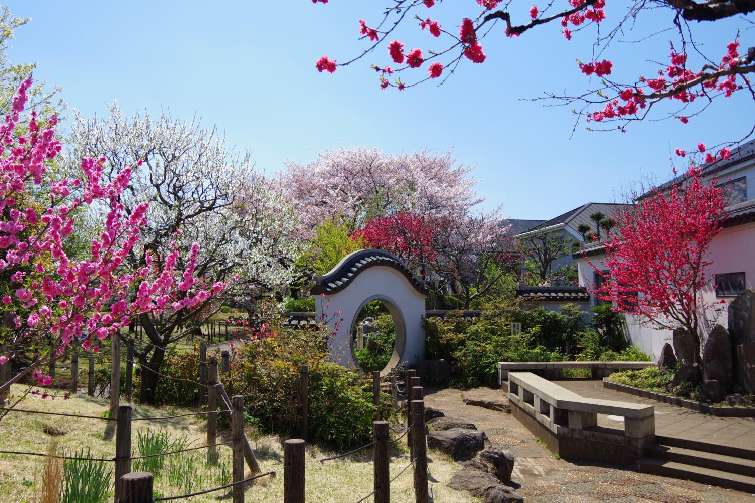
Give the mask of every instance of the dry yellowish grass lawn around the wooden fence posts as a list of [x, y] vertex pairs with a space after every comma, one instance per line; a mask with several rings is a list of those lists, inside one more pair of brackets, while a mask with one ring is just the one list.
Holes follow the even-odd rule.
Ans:
[[[21, 387], [14, 387], [14, 394], [22, 391]], [[70, 400], [57, 398], [52, 401], [42, 400], [40, 397], [30, 396], [17, 407], [38, 411], [79, 414], [82, 416], [103, 416], [107, 410], [107, 401], [100, 398], [87, 397], [77, 394]], [[171, 409], [163, 407], [155, 409], [147, 406], [135, 406], [134, 418], [171, 416], [180, 413], [190, 413], [186, 409]], [[23, 452], [46, 452], [51, 439], [57, 438], [60, 447], [70, 455], [79, 449], [91, 449], [93, 458], [112, 458], [115, 455], [114, 440], [103, 440], [106, 422], [96, 419], [76, 419], [60, 416], [43, 416], [38, 414], [9, 413], [0, 420], [0, 450]], [[137, 430], [163, 428], [174, 437], [186, 436], [191, 445], [206, 443], [205, 419], [199, 417], [176, 418], [163, 421], [138, 421], [133, 423], [133, 449], [137, 452]], [[251, 437], [255, 432], [248, 430]], [[218, 441], [229, 440], [227, 432], [219, 432]], [[277, 477], [248, 487], [246, 497], [248, 501], [259, 503], [273, 503], [283, 501], [283, 450], [282, 440], [278, 436], [258, 436], [251, 440], [257, 454], [257, 459], [263, 471], [277, 471]], [[202, 458], [195, 451], [196, 459]], [[320, 450], [317, 446], [307, 449], [309, 462], [307, 463], [307, 501], [322, 503], [356, 503], [363, 496], [372, 491], [372, 460], [371, 449], [365, 449], [346, 459], [320, 463], [317, 459], [334, 455], [334, 452]], [[227, 464], [230, 471], [230, 449], [220, 449], [220, 457]], [[444, 503], [465, 503], [478, 501], [467, 493], [448, 489], [445, 483], [458, 471], [458, 465], [447, 456], [439, 452], [429, 452], [430, 484], [435, 495], [435, 501]], [[0, 501], [19, 503], [20, 501], [39, 501], [39, 488], [42, 486], [42, 466], [45, 459], [36, 456], [0, 454]], [[391, 476], [398, 474], [409, 462], [408, 449], [404, 440], [396, 444], [391, 457]], [[196, 462], [190, 471], [205, 478], [210, 478], [203, 462]], [[217, 475], [217, 468], [215, 469]], [[185, 491], [168, 483], [165, 470], [156, 478], [155, 489], [160, 495], [180, 495]], [[195, 487], [193, 490], [209, 489], [220, 484], [208, 480], [209, 486]], [[112, 496], [112, 495], [111, 495]], [[209, 495], [197, 496], [187, 501], [218, 501], [230, 499], [227, 491], [214, 492]], [[414, 501], [412, 489], [412, 470], [405, 471], [391, 486], [391, 501], [396, 503]], [[111, 498], [112, 500], [112, 498]], [[368, 498], [365, 501], [372, 501]]]

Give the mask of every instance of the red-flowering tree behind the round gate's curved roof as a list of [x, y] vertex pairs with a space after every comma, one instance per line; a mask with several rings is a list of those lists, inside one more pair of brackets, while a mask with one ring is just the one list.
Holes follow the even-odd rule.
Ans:
[[381, 248], [399, 256], [423, 276], [426, 266], [438, 255], [433, 247], [436, 234], [432, 218], [423, 218], [408, 211], [376, 216], [359, 229], [366, 246]]

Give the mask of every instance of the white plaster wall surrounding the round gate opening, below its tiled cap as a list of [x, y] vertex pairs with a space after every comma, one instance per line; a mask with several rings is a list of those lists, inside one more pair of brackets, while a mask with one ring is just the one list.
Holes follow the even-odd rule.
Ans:
[[[399, 354], [400, 363], [417, 363], [424, 360], [424, 330], [422, 317], [425, 313], [425, 296], [414, 289], [402, 273], [384, 265], [375, 265], [359, 273], [344, 290], [326, 296], [328, 302], [315, 302], [317, 319], [322, 319], [325, 305], [326, 319], [335, 311], [341, 314], [330, 322], [331, 329], [341, 317], [343, 323], [328, 350], [334, 363], [343, 367], [357, 367], [351, 352], [351, 330], [359, 309], [368, 300], [384, 299], [393, 303], [402, 313], [405, 323], [405, 344]], [[398, 329], [396, 330], [398, 333]]]

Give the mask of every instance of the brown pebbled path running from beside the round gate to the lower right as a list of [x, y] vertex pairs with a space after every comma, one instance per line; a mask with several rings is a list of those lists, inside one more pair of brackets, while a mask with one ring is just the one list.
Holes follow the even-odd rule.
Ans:
[[[473, 391], [505, 400], [500, 389], [477, 388]], [[627, 467], [575, 464], [556, 459], [513, 416], [466, 405], [461, 398], [463, 394], [464, 391], [458, 389], [426, 388], [425, 402], [427, 406], [442, 410], [446, 416], [475, 423], [479, 430], [488, 434], [494, 447], [511, 452], [516, 457], [512, 479], [521, 486], [516, 490], [528, 503], [755, 503], [755, 496], [742, 492], [640, 474]], [[432, 466], [430, 475], [432, 481]]]

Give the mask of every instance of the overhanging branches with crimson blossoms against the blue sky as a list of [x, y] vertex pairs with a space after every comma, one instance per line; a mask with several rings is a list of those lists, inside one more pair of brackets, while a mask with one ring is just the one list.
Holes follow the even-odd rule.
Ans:
[[[313, 0], [313, 3], [318, 2], [328, 3], [327, 0]], [[573, 112], [577, 114], [577, 124], [584, 120], [592, 129], [624, 131], [630, 122], [651, 116], [651, 109], [661, 102], [670, 102], [676, 107], [660, 112], [656, 118], [665, 115], [665, 118], [676, 118], [686, 124], [707, 109], [716, 97], [730, 97], [746, 88], [755, 99], [755, 89], [746, 76], [755, 72], [755, 47], [743, 51], [738, 40], [739, 32], [752, 23], [745, 17], [755, 11], [752, 0], [633, 0], [613, 21], [606, 18], [606, 0], [559, 0], [540, 5], [476, 0], [478, 8], [473, 8], [474, 2], [468, 2], [469, 15], [462, 19], [444, 17], [443, 4], [451, 2], [395, 0], [390, 3], [389, 7], [373, 13], [374, 22], [359, 20], [359, 25], [354, 23], [355, 32], [359, 29], [362, 40], [365, 40], [362, 52], [344, 63], [323, 56], [317, 61], [316, 69], [332, 73], [338, 66], [348, 66], [378, 50], [387, 51], [390, 61], [378, 60], [371, 68], [377, 72], [381, 88], [405, 90], [427, 81], [445, 81], [464, 61], [484, 63], [488, 57], [482, 41], [488, 35], [519, 37], [543, 26], [557, 25], [565, 43], [572, 39], [572, 32], [576, 35], [576, 32], [588, 28], [595, 32], [589, 59], [586, 62], [578, 60], [575, 69], [590, 78], [587, 89], [574, 94], [546, 93], [544, 97], [575, 106]], [[624, 70], [630, 63], [606, 59], [609, 45], [617, 35], [633, 29], [642, 30], [650, 24], [650, 17], [666, 23], [667, 29], [643, 32], [638, 37], [640, 40], [664, 32], [673, 33], [674, 40], [670, 41], [669, 54], [643, 55], [643, 61], [666, 63], [649, 67], [644, 73], [652, 76], [647, 78], [643, 75], [629, 81], [612, 78], [613, 70]], [[742, 26], [732, 29], [732, 39], [726, 47], [714, 48], [706, 55], [693, 37], [695, 29], [691, 23], [707, 27], [720, 20], [729, 20], [729, 24], [741, 20]], [[607, 23], [610, 26], [606, 26]], [[408, 36], [410, 29], [427, 29], [427, 40], [440, 47], [425, 52], [421, 48], [406, 50], [399, 39]], [[656, 72], [658, 75], [653, 75]], [[402, 80], [402, 76], [407, 78]], [[750, 130], [747, 136], [752, 133]]]

